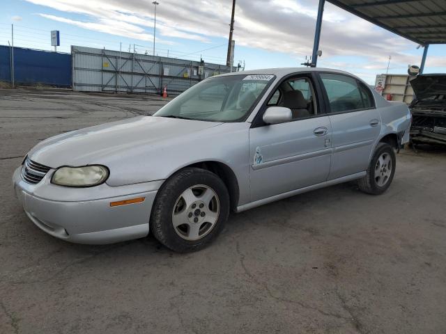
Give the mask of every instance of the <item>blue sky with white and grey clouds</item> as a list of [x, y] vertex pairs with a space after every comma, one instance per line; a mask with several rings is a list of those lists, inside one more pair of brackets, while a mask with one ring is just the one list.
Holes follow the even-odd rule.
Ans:
[[[153, 53], [153, 0], [1, 0], [0, 45], [52, 49], [99, 47]], [[157, 0], [155, 54], [226, 63], [231, 0]], [[245, 69], [300, 67], [312, 54], [318, 0], [237, 0], [234, 65]], [[369, 84], [376, 74], [420, 65], [417, 44], [325, 3], [318, 67], [352, 72]], [[431, 45], [425, 73], [446, 72], [446, 45]]]

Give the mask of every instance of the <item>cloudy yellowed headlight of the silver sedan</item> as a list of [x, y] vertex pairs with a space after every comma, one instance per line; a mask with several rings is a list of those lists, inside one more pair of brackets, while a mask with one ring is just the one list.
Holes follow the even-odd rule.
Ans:
[[98, 186], [109, 177], [105, 166], [61, 167], [52, 176], [51, 183], [59, 186]]

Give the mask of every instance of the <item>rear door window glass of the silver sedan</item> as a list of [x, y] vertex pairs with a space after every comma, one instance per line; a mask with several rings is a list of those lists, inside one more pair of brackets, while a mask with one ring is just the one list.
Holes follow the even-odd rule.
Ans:
[[330, 111], [339, 113], [374, 106], [373, 97], [367, 87], [358, 86], [356, 79], [343, 74], [321, 73], [323, 86], [330, 102]]

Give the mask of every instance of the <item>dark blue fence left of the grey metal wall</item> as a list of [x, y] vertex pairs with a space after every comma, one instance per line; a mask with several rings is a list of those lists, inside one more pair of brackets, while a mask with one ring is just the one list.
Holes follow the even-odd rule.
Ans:
[[[11, 82], [10, 51], [0, 45], [0, 81]], [[70, 87], [71, 54], [14, 47], [14, 79], [16, 84]]]

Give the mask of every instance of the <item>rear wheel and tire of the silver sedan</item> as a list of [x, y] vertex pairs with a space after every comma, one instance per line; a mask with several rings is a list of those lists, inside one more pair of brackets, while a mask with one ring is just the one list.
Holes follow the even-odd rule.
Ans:
[[371, 195], [380, 195], [386, 191], [392, 183], [396, 161], [392, 146], [387, 143], [378, 143], [367, 168], [367, 175], [357, 180], [360, 191]]

